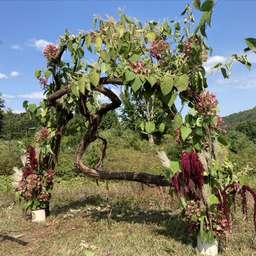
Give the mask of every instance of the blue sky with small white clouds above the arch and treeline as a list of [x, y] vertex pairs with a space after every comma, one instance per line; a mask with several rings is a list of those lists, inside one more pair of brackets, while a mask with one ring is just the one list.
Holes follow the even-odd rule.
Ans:
[[[202, 1], [201, 1], [202, 2]], [[43, 91], [34, 77], [37, 68], [46, 65], [42, 49], [49, 42], [56, 44], [59, 35], [68, 28], [72, 34], [78, 29], [93, 29], [93, 14], [116, 18], [118, 7], [136, 17], [143, 24], [163, 18], [182, 21], [180, 13], [192, 0], [93, 0], [93, 1], [0, 1], [0, 92], [6, 107], [24, 111], [22, 102], [37, 103]], [[219, 0], [207, 27], [207, 44], [213, 48], [205, 69], [223, 61], [230, 54], [239, 54], [246, 47], [243, 38], [256, 38], [256, 1]], [[194, 13], [198, 21], [197, 11]], [[219, 100], [220, 114], [226, 116], [256, 106], [256, 54], [250, 54], [251, 71], [242, 64], [234, 64], [231, 77], [214, 74], [207, 78], [208, 89]], [[209, 73], [208, 73], [209, 74]]]

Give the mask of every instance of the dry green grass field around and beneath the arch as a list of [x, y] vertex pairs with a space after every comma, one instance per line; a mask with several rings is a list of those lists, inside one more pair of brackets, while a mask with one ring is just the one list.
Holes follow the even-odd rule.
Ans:
[[[156, 149], [110, 146], [103, 169], [164, 173]], [[84, 161], [93, 161], [93, 152], [91, 148], [90, 158]], [[30, 211], [26, 220], [22, 218], [11, 176], [0, 175], [0, 255], [199, 255], [195, 235], [190, 236], [181, 222], [179, 203], [167, 194], [168, 188], [109, 181], [107, 190], [106, 181], [97, 185], [95, 180], [77, 174], [67, 151], [60, 156], [56, 173], [62, 177], [54, 181], [51, 216], [38, 223], [31, 222]], [[249, 197], [248, 205], [246, 222], [237, 200], [232, 233], [219, 241], [219, 255], [256, 255], [253, 200]]]

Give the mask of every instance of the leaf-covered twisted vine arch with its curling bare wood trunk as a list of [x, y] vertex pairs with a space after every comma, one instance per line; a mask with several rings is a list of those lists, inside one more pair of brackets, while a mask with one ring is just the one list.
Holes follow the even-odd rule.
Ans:
[[[100, 170], [105, 156], [107, 141], [98, 136], [98, 125], [103, 115], [120, 107], [118, 96], [108, 88], [110, 85], [124, 86], [126, 93], [138, 97], [150, 98], [155, 94], [162, 101], [162, 108], [172, 119], [173, 130], [180, 129], [185, 149], [202, 149], [202, 139], [207, 135], [207, 127], [217, 126], [215, 115], [206, 115], [202, 121], [202, 111], [196, 109], [200, 95], [207, 87], [205, 70], [202, 64], [207, 54], [212, 53], [204, 38], [205, 27], [210, 25], [214, 2], [194, 1], [194, 8], [202, 13], [195, 30], [191, 27], [195, 20], [192, 8], [187, 4], [181, 15], [184, 20], [164, 21], [162, 24], [149, 21], [142, 24], [125, 16], [119, 10], [120, 20], [112, 17], [106, 20], [95, 16], [93, 26], [98, 29], [80, 31], [77, 35], [66, 30], [60, 37], [58, 47], [48, 45], [44, 50], [47, 69], [37, 69], [35, 76], [44, 89], [46, 99], [39, 106], [24, 101], [24, 108], [31, 115], [36, 115], [40, 125], [47, 127], [51, 137], [41, 143], [42, 157], [48, 167], [54, 169], [60, 152], [61, 138], [67, 123], [79, 115], [85, 119], [86, 131], [77, 144], [74, 153], [74, 165], [80, 172], [97, 179], [115, 179], [169, 186], [170, 180], [164, 175], [152, 175], [138, 172], [106, 172]], [[94, 54], [97, 60], [89, 62], [88, 54]], [[65, 61], [66, 58], [71, 61]], [[234, 56], [247, 65], [247, 59]], [[217, 66], [216, 66], [217, 67]], [[229, 65], [219, 64], [222, 74], [230, 71]], [[102, 75], [103, 74], [103, 75]], [[224, 77], [225, 77], [224, 75]], [[111, 103], [99, 105], [98, 94], [109, 98]], [[189, 104], [193, 109], [185, 121], [175, 107], [176, 98], [182, 104]], [[216, 114], [217, 110], [215, 111]], [[166, 121], [162, 125], [170, 125]], [[150, 125], [149, 125], [150, 127]], [[195, 136], [192, 136], [195, 131]], [[69, 134], [69, 131], [66, 131]], [[212, 136], [218, 137], [217, 132]], [[207, 137], [207, 136], [206, 136]], [[96, 139], [102, 141], [102, 147], [95, 168], [84, 165], [81, 157], [88, 146]], [[222, 146], [226, 142], [219, 140]], [[223, 142], [224, 141], [224, 142]], [[227, 166], [226, 166], [227, 167]]]

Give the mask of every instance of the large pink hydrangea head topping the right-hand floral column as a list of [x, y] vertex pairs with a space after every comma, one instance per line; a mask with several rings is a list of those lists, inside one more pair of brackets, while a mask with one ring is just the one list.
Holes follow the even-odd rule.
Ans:
[[197, 110], [202, 111], [203, 114], [212, 115], [216, 113], [215, 108], [218, 103], [214, 93], [205, 91], [205, 93], [201, 94], [200, 100], [197, 103]]

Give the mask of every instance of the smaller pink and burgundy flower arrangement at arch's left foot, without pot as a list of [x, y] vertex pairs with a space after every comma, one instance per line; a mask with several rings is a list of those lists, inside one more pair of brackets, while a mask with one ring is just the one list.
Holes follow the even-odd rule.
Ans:
[[[44, 161], [40, 160], [39, 151], [35, 150], [32, 146], [27, 145], [27, 155], [23, 160], [24, 169], [21, 171], [14, 168], [15, 175], [17, 176], [17, 185], [15, 189], [16, 196], [19, 201], [25, 201], [23, 209], [47, 209], [51, 199], [51, 184], [54, 179], [54, 171], [47, 168]], [[21, 176], [21, 179], [18, 179]]]

